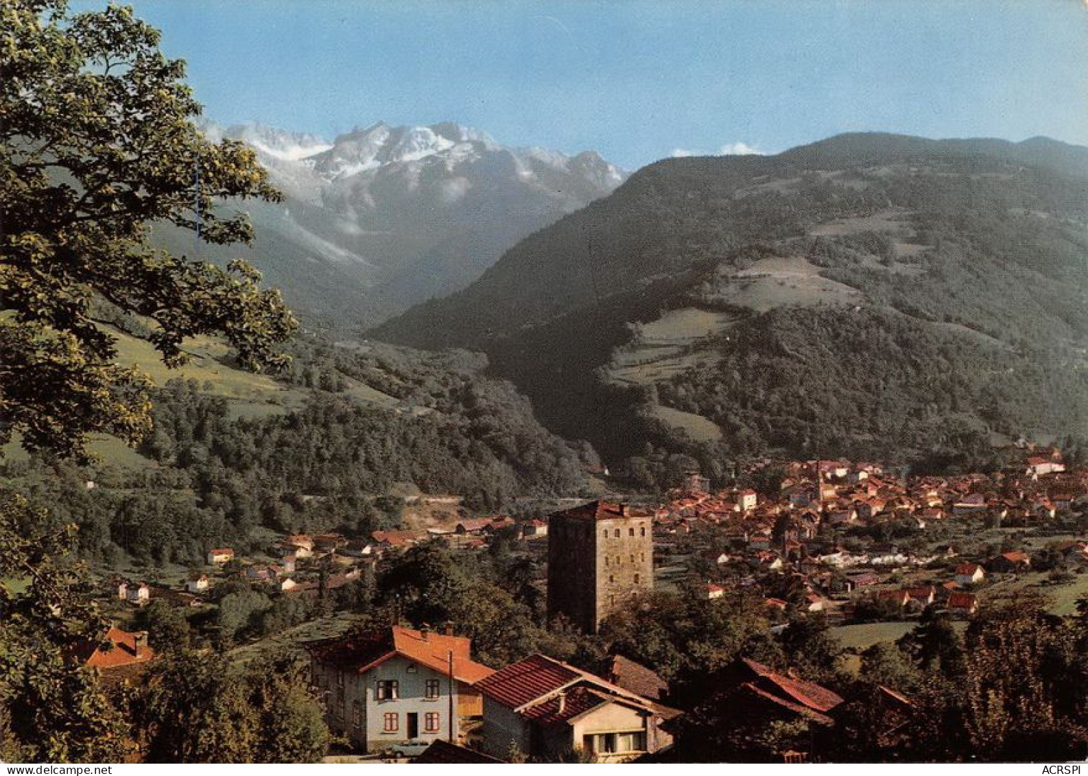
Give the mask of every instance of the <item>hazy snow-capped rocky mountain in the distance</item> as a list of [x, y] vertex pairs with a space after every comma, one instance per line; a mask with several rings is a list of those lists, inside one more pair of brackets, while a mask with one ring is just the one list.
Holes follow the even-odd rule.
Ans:
[[260, 124], [202, 128], [254, 148], [286, 197], [232, 204], [250, 212], [258, 236], [223, 258], [249, 259], [304, 317], [338, 328], [465, 287], [519, 239], [626, 177], [593, 151], [508, 148], [453, 123], [379, 122], [331, 143]]

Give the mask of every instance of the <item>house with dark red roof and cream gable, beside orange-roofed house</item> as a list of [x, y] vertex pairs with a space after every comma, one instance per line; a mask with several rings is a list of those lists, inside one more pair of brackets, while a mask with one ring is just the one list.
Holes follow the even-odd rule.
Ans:
[[594, 762], [625, 762], [671, 743], [660, 728], [679, 712], [545, 655], [477, 682], [483, 693], [483, 750], [496, 757], [581, 750]]

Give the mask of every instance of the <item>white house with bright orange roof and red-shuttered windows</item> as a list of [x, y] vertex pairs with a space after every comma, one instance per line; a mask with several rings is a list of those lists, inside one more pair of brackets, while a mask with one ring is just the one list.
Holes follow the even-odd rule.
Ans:
[[483, 712], [473, 685], [493, 673], [472, 660], [471, 646], [448, 630], [400, 626], [311, 643], [325, 722], [366, 752], [456, 741], [462, 722]]

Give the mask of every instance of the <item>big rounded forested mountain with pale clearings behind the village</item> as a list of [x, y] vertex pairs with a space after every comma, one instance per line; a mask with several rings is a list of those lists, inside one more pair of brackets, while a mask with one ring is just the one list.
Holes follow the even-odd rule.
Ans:
[[1086, 226], [1044, 138], [672, 159], [374, 334], [486, 352], [614, 464], [977, 457], [1086, 428]]

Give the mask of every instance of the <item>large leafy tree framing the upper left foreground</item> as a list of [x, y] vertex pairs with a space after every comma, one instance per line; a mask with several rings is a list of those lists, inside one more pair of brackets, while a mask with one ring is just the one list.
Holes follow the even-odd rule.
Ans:
[[113, 362], [92, 319], [102, 301], [150, 321], [168, 365], [185, 337], [218, 333], [247, 367], [275, 367], [294, 329], [247, 264], [146, 243], [154, 222], [248, 242], [246, 218], [217, 204], [279, 197], [250, 150], [200, 134], [184, 63], [158, 44], [131, 9], [0, 3], [0, 444], [18, 432], [28, 448], [78, 456], [89, 432], [146, 432], [148, 382]]

